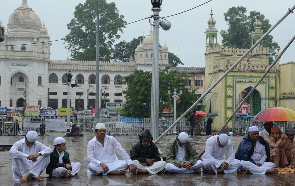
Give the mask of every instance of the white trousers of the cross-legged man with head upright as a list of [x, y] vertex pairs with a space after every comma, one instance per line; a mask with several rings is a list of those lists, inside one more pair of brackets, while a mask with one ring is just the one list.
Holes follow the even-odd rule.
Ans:
[[103, 163], [106, 164], [106, 166], [109, 168], [109, 171], [104, 172], [100, 165], [89, 163], [87, 166], [88, 168], [87, 173], [94, 173], [94, 174], [102, 173], [102, 175], [107, 175], [111, 171], [126, 170], [129, 167], [128, 163], [124, 160], [117, 160], [115, 162], [103, 162]]

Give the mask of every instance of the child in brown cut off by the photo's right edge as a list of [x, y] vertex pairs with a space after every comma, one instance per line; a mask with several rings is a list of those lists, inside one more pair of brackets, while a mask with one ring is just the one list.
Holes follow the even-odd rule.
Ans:
[[289, 164], [295, 169], [295, 142], [294, 142], [295, 130], [287, 129], [286, 135], [288, 136], [287, 143], [285, 145], [285, 152]]

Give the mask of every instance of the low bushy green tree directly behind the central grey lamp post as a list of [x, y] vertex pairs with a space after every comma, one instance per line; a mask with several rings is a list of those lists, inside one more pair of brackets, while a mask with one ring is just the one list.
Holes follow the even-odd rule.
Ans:
[[[159, 105], [162, 108], [171, 108], [173, 105], [173, 97], [168, 97], [166, 84], [170, 82], [171, 92], [176, 88], [179, 92], [179, 83], [186, 81], [183, 77], [188, 78], [188, 75], [176, 73], [176, 71], [170, 71], [169, 68], [159, 70]], [[126, 102], [123, 105], [122, 112], [127, 117], [150, 117], [151, 106], [151, 87], [152, 87], [152, 74], [151, 72], [143, 72], [137, 70], [133, 74], [124, 77], [124, 82], [129, 82], [125, 94]], [[197, 100], [199, 95], [194, 94], [185, 86], [183, 87], [183, 95], [178, 100], [177, 116], [184, 113], [194, 101]], [[162, 108], [159, 107], [159, 112], [162, 112]]]

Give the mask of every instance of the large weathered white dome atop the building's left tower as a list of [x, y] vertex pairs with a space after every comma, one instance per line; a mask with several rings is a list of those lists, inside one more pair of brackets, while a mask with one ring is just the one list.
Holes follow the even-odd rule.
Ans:
[[8, 29], [31, 29], [39, 32], [41, 29], [39, 16], [28, 6], [27, 0], [22, 0], [22, 4], [8, 18]]

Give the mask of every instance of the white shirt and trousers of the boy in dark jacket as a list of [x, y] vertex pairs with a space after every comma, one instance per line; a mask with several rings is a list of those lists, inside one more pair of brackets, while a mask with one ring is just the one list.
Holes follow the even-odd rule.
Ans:
[[[59, 153], [57, 150], [57, 154], [59, 155], [58, 163], [63, 163], [62, 157], [64, 156], [65, 151], [61, 151], [61, 153]], [[81, 163], [72, 162], [71, 166], [72, 166], [71, 176], [75, 176], [76, 174], [78, 174], [78, 172], [81, 168]], [[52, 170], [52, 176], [56, 177], [56, 178], [64, 177], [66, 175], [66, 171], [67, 171], [67, 169], [65, 167], [57, 167]]]

